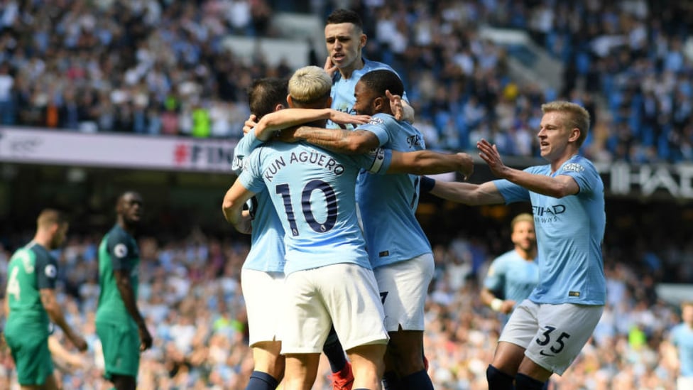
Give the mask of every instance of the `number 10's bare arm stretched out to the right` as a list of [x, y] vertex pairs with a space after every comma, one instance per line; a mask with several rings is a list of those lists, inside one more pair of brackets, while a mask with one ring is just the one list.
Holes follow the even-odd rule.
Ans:
[[434, 151], [392, 152], [392, 162], [387, 173], [411, 173], [435, 175], [459, 172], [464, 180], [474, 172], [474, 161], [467, 153], [437, 153]]

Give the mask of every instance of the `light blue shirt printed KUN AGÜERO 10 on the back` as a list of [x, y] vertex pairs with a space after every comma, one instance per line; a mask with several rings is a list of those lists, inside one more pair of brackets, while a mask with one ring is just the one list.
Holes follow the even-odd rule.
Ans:
[[239, 180], [266, 189], [286, 232], [284, 273], [350, 263], [371, 268], [356, 217], [356, 175], [385, 173], [391, 151], [344, 156], [308, 143], [267, 143], [246, 157]]

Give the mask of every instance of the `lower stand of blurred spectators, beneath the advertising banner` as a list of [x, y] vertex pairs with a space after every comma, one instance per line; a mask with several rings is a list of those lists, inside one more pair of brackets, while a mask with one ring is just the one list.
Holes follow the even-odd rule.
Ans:
[[[435, 387], [441, 390], [486, 389], [486, 365], [503, 320], [481, 303], [479, 291], [490, 261], [509, 249], [507, 224], [491, 222], [481, 213], [467, 215], [468, 223], [458, 222], [458, 229], [441, 227], [447, 235], [430, 234], [436, 268], [427, 300], [425, 350]], [[619, 213], [613, 226], [629, 218]], [[0, 234], [4, 244], [0, 286], [6, 283], [11, 250], [31, 239], [31, 232]], [[249, 240], [229, 232], [219, 239], [202, 229], [180, 238], [170, 232], [157, 234], [138, 239], [142, 259], [138, 306], [155, 340], [152, 350], [142, 355], [138, 389], [244, 389], [253, 364], [239, 275]], [[670, 274], [662, 272], [667, 266], [665, 252], [682, 254], [691, 248], [672, 235], [676, 241], [668, 246], [640, 240], [645, 247], [629, 252], [622, 242], [633, 237], [619, 234], [608, 234], [604, 251], [609, 303], [576, 364], [563, 377], [553, 377], [560, 389], [673, 389], [675, 369], [663, 351], [668, 330], [679, 322], [678, 313], [675, 305], [657, 297], [655, 286]], [[110, 386], [101, 377], [103, 362], [94, 329], [100, 239], [99, 234], [75, 232], [57, 253], [63, 310], [89, 342], [87, 355], [76, 364], [58, 362], [66, 389]], [[662, 259], [659, 271], [653, 271], [657, 265], [653, 256]], [[682, 259], [690, 261], [693, 256]], [[693, 269], [683, 260], [678, 266]], [[693, 275], [681, 281], [691, 283]], [[59, 331], [55, 335], [67, 342]], [[322, 364], [315, 389], [329, 386], [329, 364]], [[14, 389], [10, 382], [15, 375], [9, 350], [0, 348], [0, 388]]]

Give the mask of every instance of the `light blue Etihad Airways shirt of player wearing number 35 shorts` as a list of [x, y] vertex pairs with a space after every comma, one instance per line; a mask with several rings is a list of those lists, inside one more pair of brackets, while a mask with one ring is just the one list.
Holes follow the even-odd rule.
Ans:
[[508, 180], [494, 180], [506, 203], [532, 202], [537, 232], [540, 281], [530, 295], [535, 303], [604, 305], [606, 278], [601, 242], [604, 239], [604, 183], [594, 165], [572, 156], [551, 173], [551, 166], [533, 166], [535, 175], [569, 175], [579, 193], [562, 198], [532, 193]]

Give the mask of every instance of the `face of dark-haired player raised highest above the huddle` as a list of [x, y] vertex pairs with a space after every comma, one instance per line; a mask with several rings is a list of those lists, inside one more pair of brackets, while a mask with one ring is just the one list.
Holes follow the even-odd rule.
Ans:
[[366, 35], [351, 23], [328, 24], [325, 26], [325, 44], [332, 65], [340, 70], [354, 70], [361, 61], [361, 48], [366, 44]]

